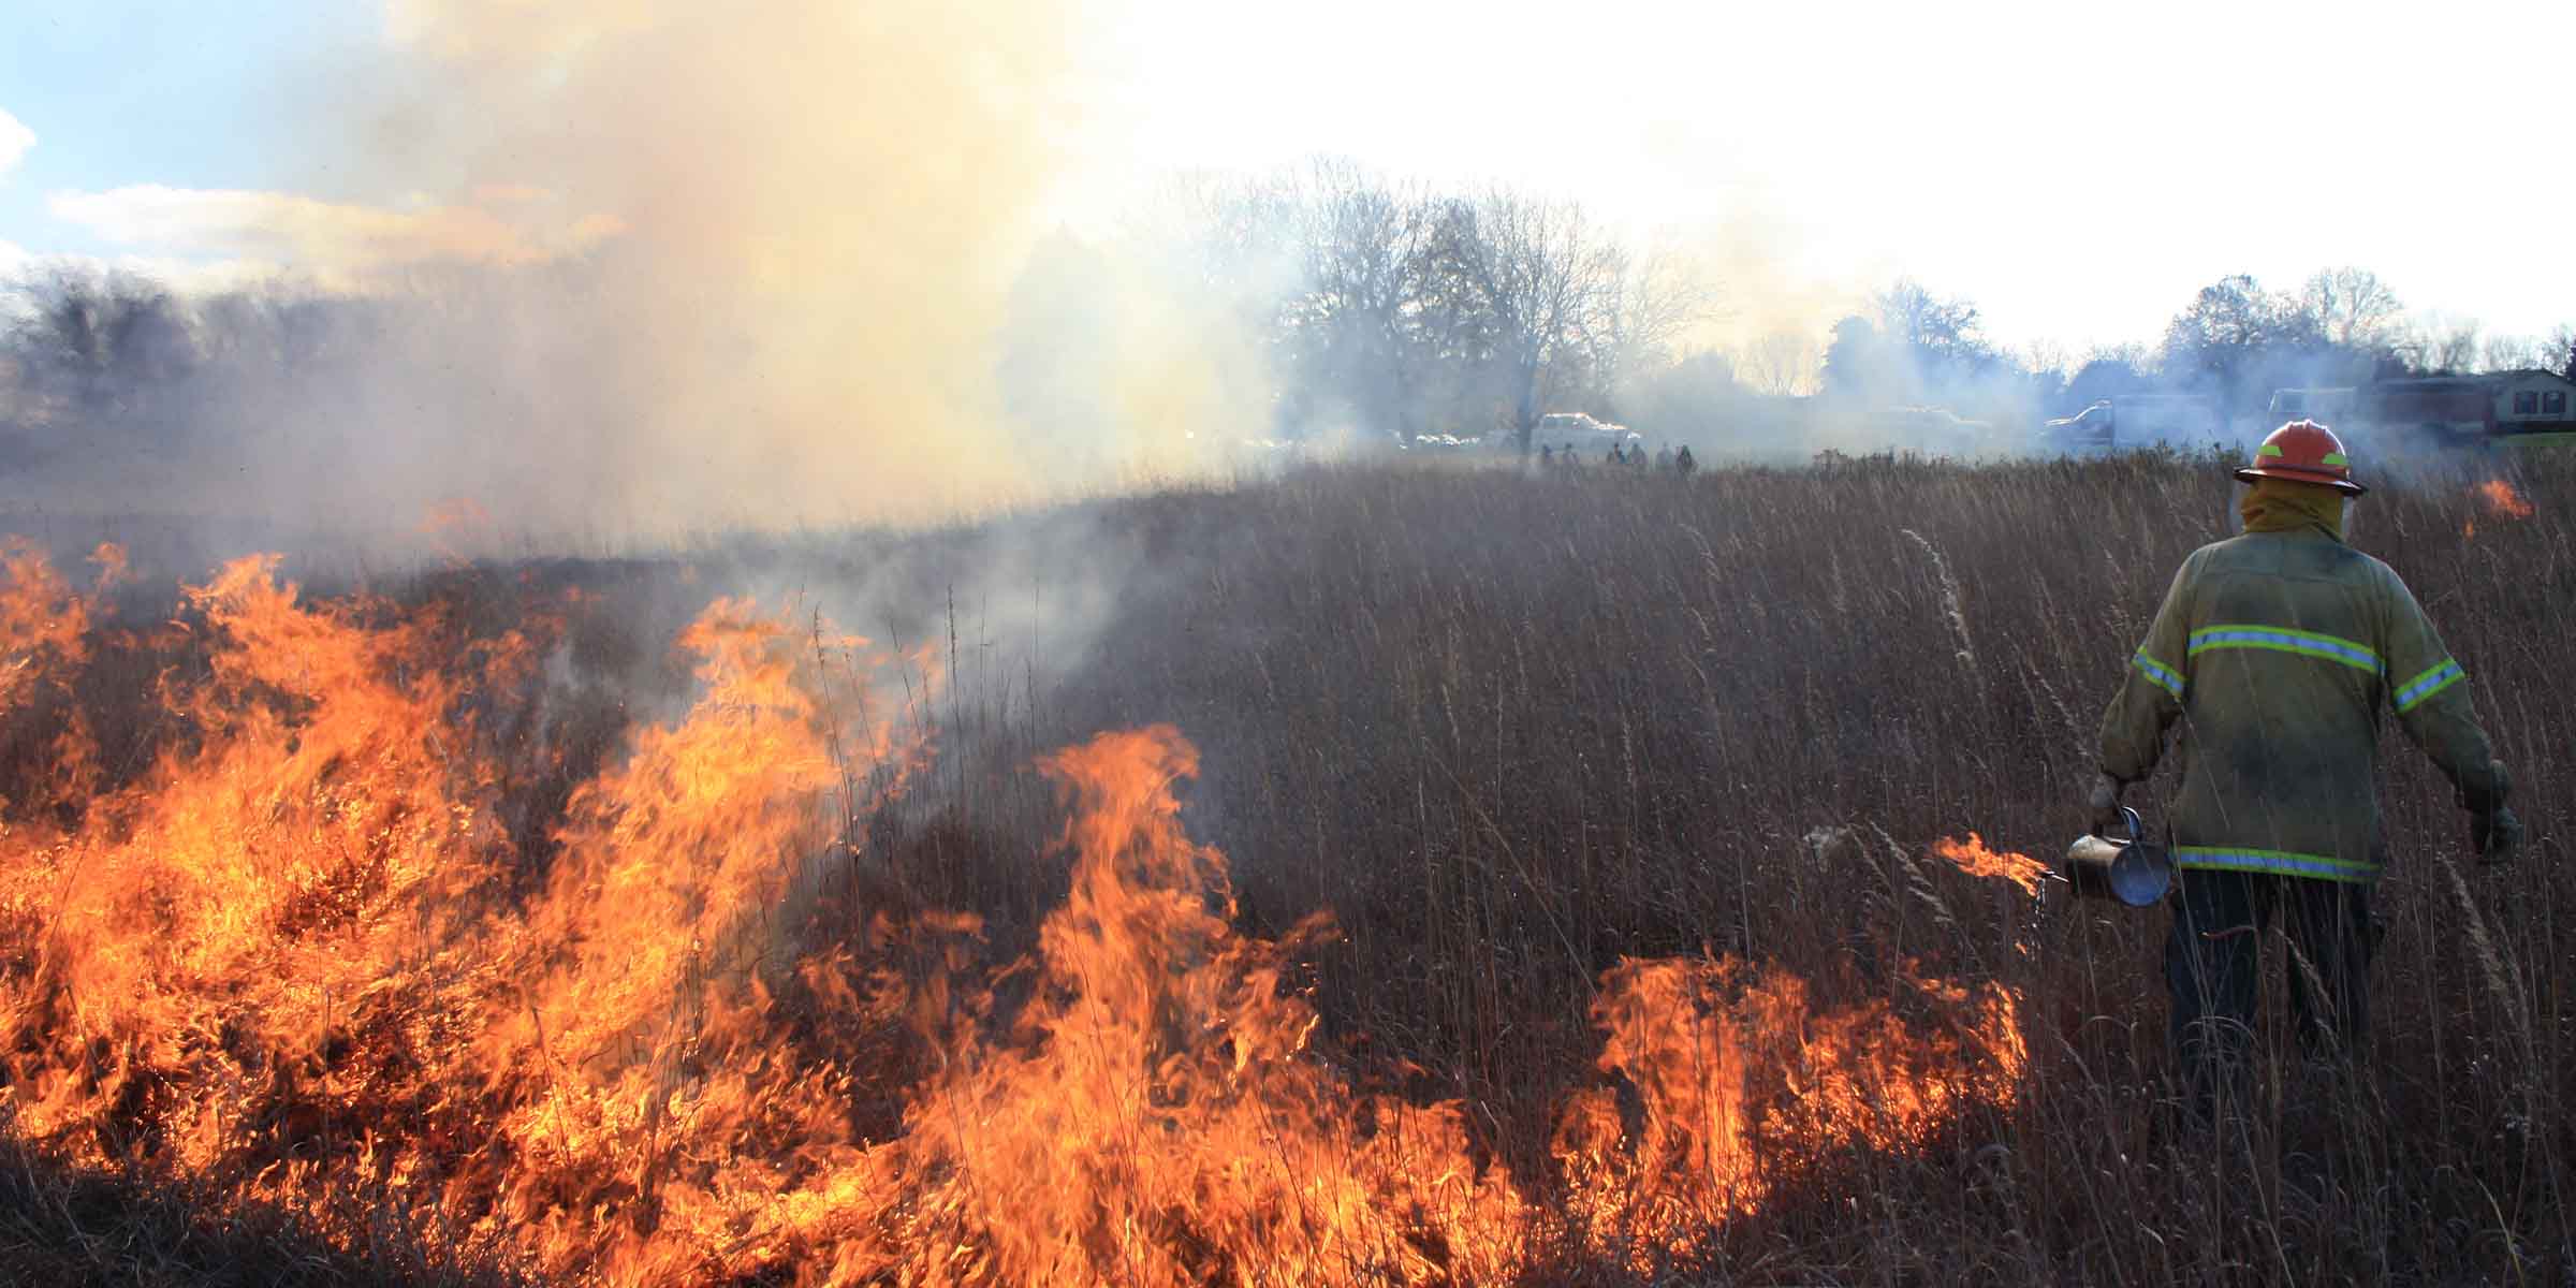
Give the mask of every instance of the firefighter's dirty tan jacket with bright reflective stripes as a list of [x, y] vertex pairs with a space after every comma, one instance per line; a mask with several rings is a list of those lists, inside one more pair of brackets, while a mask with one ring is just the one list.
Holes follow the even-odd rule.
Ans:
[[2102, 773], [2156, 768], [2182, 719], [2174, 863], [2378, 881], [2380, 706], [2463, 801], [2504, 770], [2460, 665], [2388, 564], [2321, 528], [2192, 551], [2102, 716]]

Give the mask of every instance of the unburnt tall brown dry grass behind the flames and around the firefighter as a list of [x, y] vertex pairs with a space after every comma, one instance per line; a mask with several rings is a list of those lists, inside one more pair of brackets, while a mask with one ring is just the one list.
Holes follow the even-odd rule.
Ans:
[[[974, 603], [943, 600], [974, 574], [971, 531], [456, 569], [410, 595], [477, 634], [587, 587], [569, 641], [603, 680], [559, 701], [546, 734], [569, 750], [569, 791], [613, 755], [623, 703], [685, 683], [657, 641], [693, 587], [899, 564], [920, 611], [889, 626], [956, 677], [945, 755], [878, 819], [848, 899], [974, 909], [1007, 958], [1064, 891], [1036, 858], [1061, 819], [1030, 757], [1177, 724], [1206, 757], [1188, 824], [1231, 855], [1239, 917], [1278, 933], [1332, 909], [1342, 927], [1303, 981], [1324, 1051], [1363, 1082], [1466, 1097], [1517, 1177], [1548, 1175], [1551, 1110], [1602, 1077], [1587, 1007], [1620, 956], [1736, 953], [1821, 1002], [1880, 994], [1911, 961], [2025, 994], [2017, 1103], [1927, 1151], [1819, 1159], [1672, 1275], [2558, 1280], [2576, 1273], [2576, 466], [2499, 469], [2532, 518], [2491, 513], [2458, 477], [2396, 482], [2354, 541], [2409, 577], [2468, 665], [2535, 845], [2509, 873], [2473, 871], [2447, 791], [2391, 732], [2367, 1079], [2329, 1095], [2275, 1023], [2259, 1105], [2218, 1136], [2172, 1113], [2161, 912], [2030, 902], [1922, 858], [1971, 829], [2050, 855], [2081, 829], [2120, 665], [2174, 564], [2226, 533], [2233, 484], [2205, 461], [1316, 469], [1015, 520], [1061, 526], [1064, 559], [1038, 577], [1123, 572], [1079, 654], [992, 639]], [[113, 714], [118, 690], [85, 701]], [[183, 737], [95, 724], [137, 747], [126, 762]], [[531, 863], [559, 806], [518, 801]], [[2275, 1018], [2282, 958], [2272, 940]], [[162, 1211], [147, 1180], [129, 1190]], [[1540, 1278], [1628, 1267], [1564, 1252]]]

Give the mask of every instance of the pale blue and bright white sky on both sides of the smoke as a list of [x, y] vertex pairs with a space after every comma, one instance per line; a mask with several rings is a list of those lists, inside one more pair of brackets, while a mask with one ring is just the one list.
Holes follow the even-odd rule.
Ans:
[[[531, 26], [497, 0], [399, 3]], [[538, 26], [582, 8], [652, 10], [556, 3]], [[2491, 332], [2576, 322], [2576, 170], [2550, 160], [2566, 149], [2566, 80], [2548, 67], [2576, 52], [2563, 0], [2403, 15], [2267, 0], [999, 13], [1084, 41], [1079, 111], [1048, 144], [1051, 196], [1020, 211], [1033, 227], [1110, 222], [1157, 173], [1329, 152], [1577, 193], [1708, 263], [1752, 332], [1821, 332], [1914, 276], [1981, 304], [2007, 343], [2081, 350], [2154, 340], [2218, 276], [2287, 289], [2344, 263]], [[358, 103], [428, 59], [368, 0], [13, 0], [0, 23], [0, 111], [36, 134], [0, 173], [0, 242], [26, 252], [541, 258], [595, 237], [564, 232], [574, 216], [621, 214], [538, 216], [368, 157]]]

